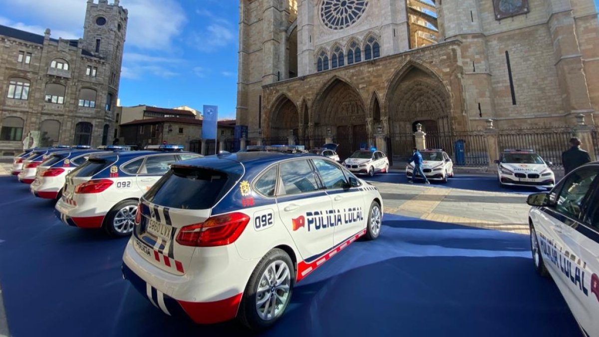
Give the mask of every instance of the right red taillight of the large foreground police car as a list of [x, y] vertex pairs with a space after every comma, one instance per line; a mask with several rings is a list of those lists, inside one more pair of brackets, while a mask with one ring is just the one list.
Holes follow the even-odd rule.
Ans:
[[177, 242], [183, 246], [196, 247], [229, 245], [243, 233], [247, 222], [250, 222], [250, 217], [244, 213], [212, 216], [201, 224], [181, 228]]

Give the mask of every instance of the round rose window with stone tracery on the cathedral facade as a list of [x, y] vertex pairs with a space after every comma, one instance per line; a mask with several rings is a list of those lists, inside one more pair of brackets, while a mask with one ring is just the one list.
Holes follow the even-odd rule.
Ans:
[[323, 0], [320, 4], [320, 19], [328, 28], [347, 28], [364, 14], [368, 0]]

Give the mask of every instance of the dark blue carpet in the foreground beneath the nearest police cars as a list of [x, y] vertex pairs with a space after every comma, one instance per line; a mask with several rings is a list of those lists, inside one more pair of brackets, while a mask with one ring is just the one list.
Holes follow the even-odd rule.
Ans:
[[[248, 335], [196, 326], [154, 308], [120, 275], [127, 239], [55, 219], [53, 202], [0, 177], [0, 284], [11, 333], [23, 336]], [[536, 275], [528, 237], [385, 215], [298, 284], [266, 336], [574, 336], [553, 281]]]

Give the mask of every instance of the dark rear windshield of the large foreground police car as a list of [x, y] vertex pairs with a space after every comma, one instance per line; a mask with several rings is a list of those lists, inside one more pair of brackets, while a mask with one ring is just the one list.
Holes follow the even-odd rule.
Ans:
[[179, 209], [209, 209], [231, 189], [237, 176], [199, 167], [168, 171], [144, 196], [160, 206]]

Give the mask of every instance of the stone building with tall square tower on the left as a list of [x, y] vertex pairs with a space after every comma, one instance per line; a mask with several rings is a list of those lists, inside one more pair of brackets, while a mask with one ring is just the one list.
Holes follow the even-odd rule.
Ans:
[[79, 40], [0, 26], [0, 155], [111, 142], [127, 17], [119, 0], [87, 0]]

